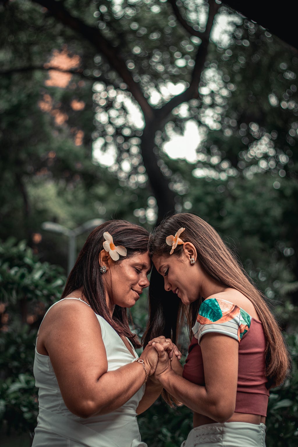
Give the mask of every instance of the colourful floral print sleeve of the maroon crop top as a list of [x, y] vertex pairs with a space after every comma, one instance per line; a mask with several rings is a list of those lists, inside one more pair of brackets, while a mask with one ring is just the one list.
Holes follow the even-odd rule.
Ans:
[[252, 317], [243, 309], [225, 299], [209, 298], [202, 302], [193, 335], [200, 344], [201, 337], [210, 332], [241, 338], [250, 328]]

